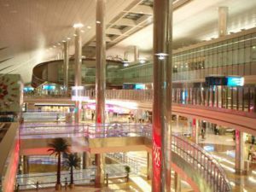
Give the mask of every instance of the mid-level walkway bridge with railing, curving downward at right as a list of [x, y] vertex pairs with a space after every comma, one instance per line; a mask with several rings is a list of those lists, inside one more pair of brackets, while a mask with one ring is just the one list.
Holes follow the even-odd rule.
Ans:
[[[151, 125], [119, 127], [67, 125], [20, 127], [20, 154], [47, 154], [52, 137], [67, 137], [73, 152], [110, 153], [136, 150], [151, 152]], [[202, 148], [183, 137], [172, 135], [172, 168], [183, 176], [195, 191], [231, 191], [228, 179], [216, 160]]]

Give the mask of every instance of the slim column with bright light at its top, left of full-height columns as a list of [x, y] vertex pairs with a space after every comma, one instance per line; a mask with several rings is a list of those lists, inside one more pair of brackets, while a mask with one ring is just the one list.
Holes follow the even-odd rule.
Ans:
[[[82, 85], [82, 38], [80, 27], [75, 28], [75, 86]], [[81, 104], [79, 101], [75, 102], [75, 123], [79, 123]]]

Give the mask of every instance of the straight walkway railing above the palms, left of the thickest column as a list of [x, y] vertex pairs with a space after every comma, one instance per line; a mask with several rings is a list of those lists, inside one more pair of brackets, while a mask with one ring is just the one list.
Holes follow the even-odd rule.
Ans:
[[47, 137], [143, 137], [148, 130], [148, 124], [106, 124], [106, 125], [20, 125], [20, 138], [47, 138]]

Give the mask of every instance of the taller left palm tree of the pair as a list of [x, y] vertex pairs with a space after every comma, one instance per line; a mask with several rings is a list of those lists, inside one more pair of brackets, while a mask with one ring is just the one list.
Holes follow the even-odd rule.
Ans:
[[50, 154], [55, 154], [58, 158], [57, 164], [57, 182], [55, 189], [61, 189], [61, 153], [69, 152], [69, 144], [66, 139], [63, 138], [54, 138], [51, 143], [48, 143]]

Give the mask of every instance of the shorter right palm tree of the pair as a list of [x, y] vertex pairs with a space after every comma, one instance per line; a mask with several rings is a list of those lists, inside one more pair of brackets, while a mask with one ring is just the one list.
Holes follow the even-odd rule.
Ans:
[[73, 183], [73, 168], [79, 168], [81, 159], [79, 158], [78, 154], [68, 154], [66, 160], [64, 161], [64, 165], [67, 168], [70, 168], [70, 185], [69, 187], [72, 189], [74, 186]]

